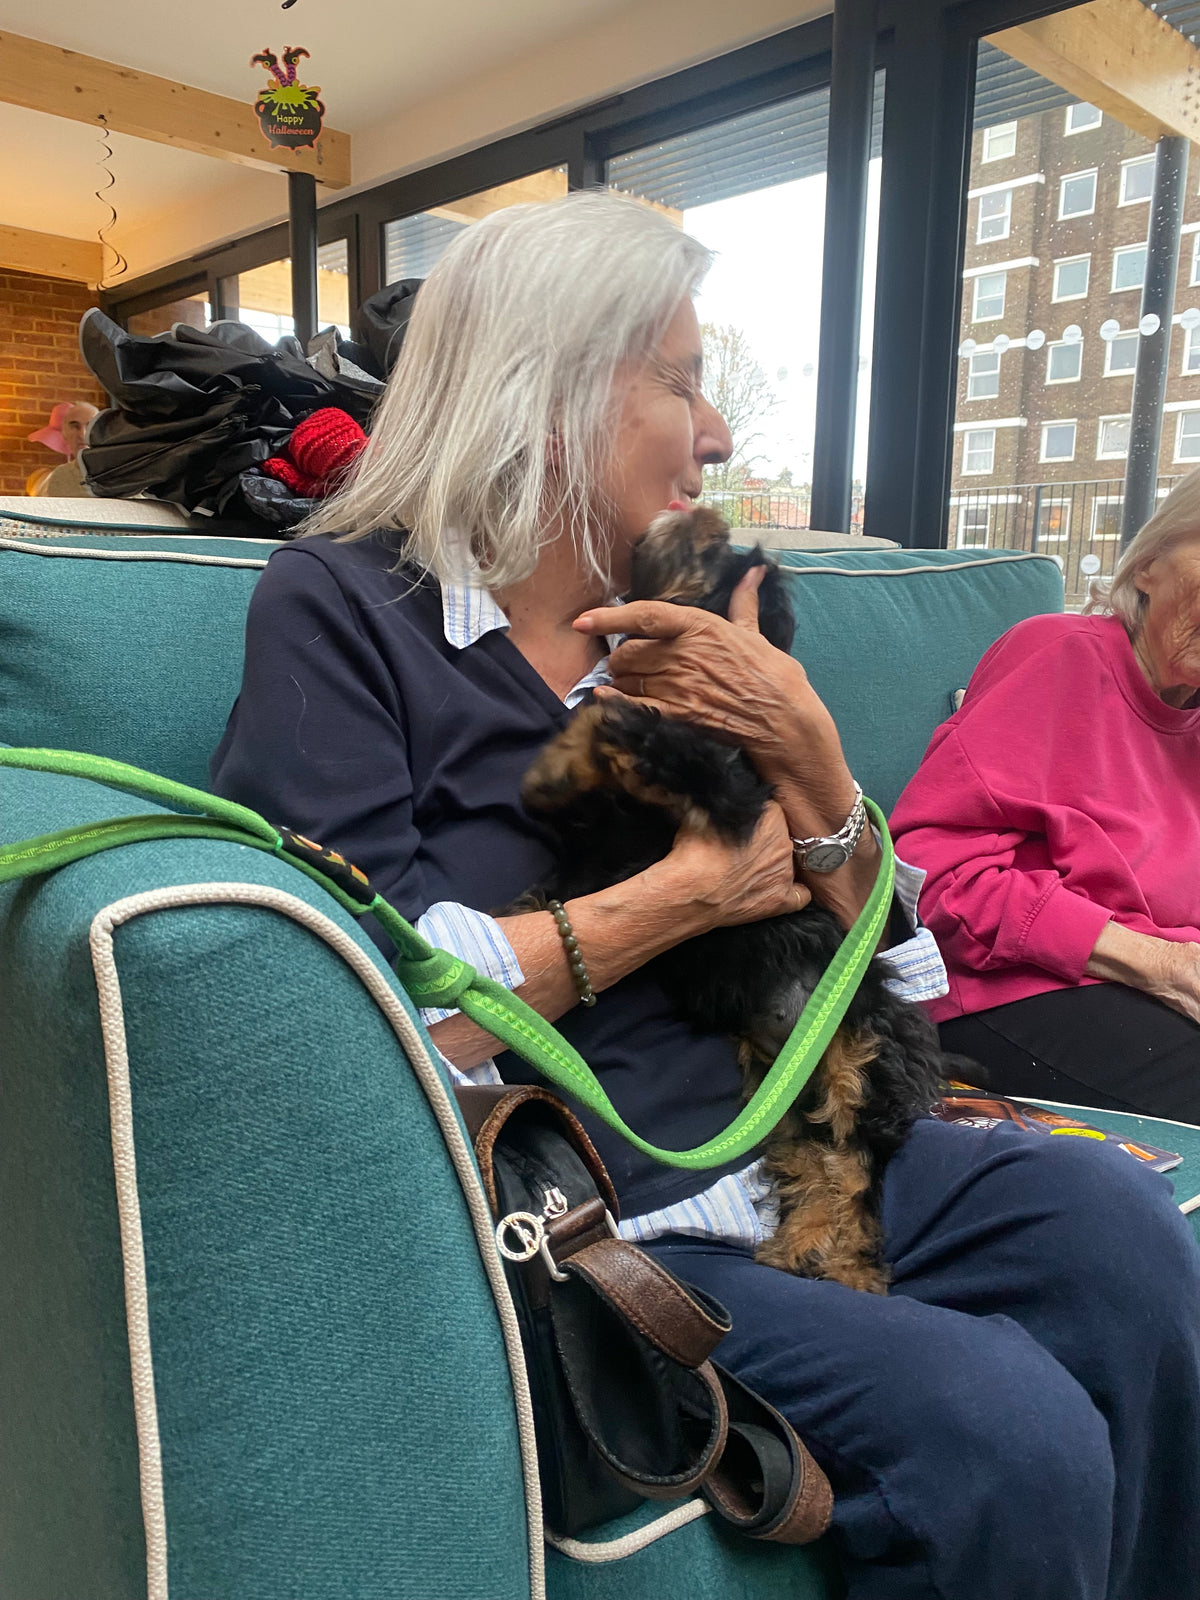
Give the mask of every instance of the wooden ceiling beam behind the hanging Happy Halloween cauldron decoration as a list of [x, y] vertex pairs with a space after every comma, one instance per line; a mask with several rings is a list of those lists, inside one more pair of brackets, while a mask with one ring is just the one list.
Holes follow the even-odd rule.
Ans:
[[21, 34], [0, 32], [0, 101], [91, 126], [102, 115], [114, 133], [272, 173], [312, 173], [330, 189], [350, 182], [349, 133], [325, 128], [315, 149], [275, 149], [262, 136], [250, 94], [245, 102], [227, 99]]

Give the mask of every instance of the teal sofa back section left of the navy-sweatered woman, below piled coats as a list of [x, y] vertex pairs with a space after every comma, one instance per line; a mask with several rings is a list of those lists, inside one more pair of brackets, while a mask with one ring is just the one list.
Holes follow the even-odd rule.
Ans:
[[0, 538], [0, 739], [208, 787], [270, 541]]

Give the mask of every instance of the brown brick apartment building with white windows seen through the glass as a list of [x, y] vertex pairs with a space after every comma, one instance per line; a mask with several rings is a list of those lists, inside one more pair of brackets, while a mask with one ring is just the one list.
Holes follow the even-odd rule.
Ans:
[[[1152, 179], [1154, 146], [1091, 106], [974, 136], [949, 542], [1058, 552], [1069, 592], [1117, 552]], [[1160, 491], [1200, 464], [1197, 179], [1192, 150]]]

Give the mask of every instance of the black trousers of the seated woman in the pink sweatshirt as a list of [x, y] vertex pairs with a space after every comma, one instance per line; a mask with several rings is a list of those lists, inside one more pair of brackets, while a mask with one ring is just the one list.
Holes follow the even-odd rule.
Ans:
[[1200, 1026], [1139, 989], [1054, 989], [939, 1032], [979, 1088], [1200, 1123]]

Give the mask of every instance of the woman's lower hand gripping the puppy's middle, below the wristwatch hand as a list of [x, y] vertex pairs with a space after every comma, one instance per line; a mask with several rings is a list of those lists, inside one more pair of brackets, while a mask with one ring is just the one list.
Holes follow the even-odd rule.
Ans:
[[715, 834], [682, 827], [667, 856], [643, 874], [651, 899], [675, 906], [688, 938], [802, 910], [813, 898], [795, 882], [784, 813], [768, 802], [754, 835], [730, 845]]

